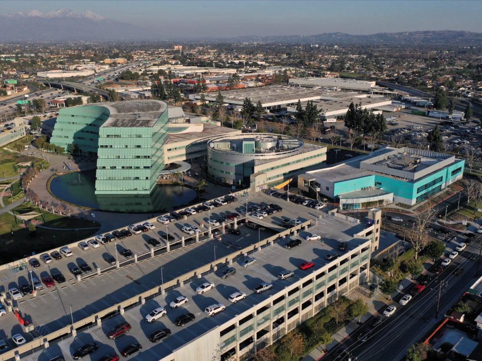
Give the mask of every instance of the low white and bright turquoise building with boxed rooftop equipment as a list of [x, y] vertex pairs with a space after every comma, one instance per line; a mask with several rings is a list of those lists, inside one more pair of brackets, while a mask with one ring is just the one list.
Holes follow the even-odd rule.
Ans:
[[409, 147], [386, 147], [298, 176], [307, 193], [339, 201], [341, 209], [392, 202], [414, 205], [462, 178], [464, 159]]

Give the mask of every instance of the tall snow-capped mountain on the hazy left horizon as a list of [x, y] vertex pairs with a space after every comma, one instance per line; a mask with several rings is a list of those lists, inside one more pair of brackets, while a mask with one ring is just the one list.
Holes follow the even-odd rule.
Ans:
[[79, 14], [70, 9], [50, 13], [33, 10], [0, 15], [0, 41], [108, 41], [141, 40], [150, 32], [141, 27], [104, 18], [90, 11]]

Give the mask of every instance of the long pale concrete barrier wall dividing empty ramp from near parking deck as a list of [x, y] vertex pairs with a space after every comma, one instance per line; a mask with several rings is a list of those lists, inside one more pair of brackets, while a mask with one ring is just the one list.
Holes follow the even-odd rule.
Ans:
[[[159, 285], [157, 287], [153, 287], [150, 290], [142, 292], [134, 297], [128, 298], [122, 302], [114, 304], [110, 307], [107, 307], [99, 312], [96, 312], [88, 317], [85, 317], [79, 321], [74, 322], [70, 326], [64, 326], [54, 332], [51, 332], [45, 336], [38, 336], [34, 340], [24, 343], [12, 350], [4, 352], [0, 354], [0, 361], [10, 361], [11, 359], [20, 359], [23, 356], [27, 356], [32, 354], [36, 351], [41, 350], [42, 348], [47, 348], [51, 341], [57, 341], [59, 339], [64, 339], [70, 336], [75, 336], [77, 330], [82, 330], [90, 325], [101, 327], [102, 320], [104, 318], [110, 318], [117, 314], [124, 314], [126, 309], [131, 309], [136, 306], [142, 305], [151, 298], [164, 294], [166, 291], [170, 291], [177, 287], [182, 287], [184, 283], [190, 282], [193, 278], [201, 278], [203, 275], [206, 275], [210, 272], [214, 272], [216, 270], [216, 264], [223, 263], [223, 264], [231, 264], [233, 261], [240, 257], [246, 257], [247, 255], [260, 250], [263, 247], [269, 247], [273, 245], [277, 240], [290, 236], [291, 234], [296, 234], [297, 231], [301, 229], [307, 229], [308, 226], [311, 225], [311, 221], [303, 222], [302, 224], [295, 226], [293, 228], [289, 228], [283, 232], [280, 232], [274, 236], [265, 238], [260, 242], [247, 246], [241, 250], [234, 251], [222, 258], [219, 258], [215, 262], [210, 262], [204, 266], [198, 267], [195, 270], [189, 271], [184, 273], [183, 275], [172, 279], [170, 281], [164, 282], [163, 285]], [[171, 251], [172, 252], [172, 251]], [[96, 276], [96, 275], [94, 275]], [[90, 278], [90, 277], [86, 277]], [[82, 281], [85, 279], [82, 279]], [[70, 334], [70, 336], [68, 336]]]

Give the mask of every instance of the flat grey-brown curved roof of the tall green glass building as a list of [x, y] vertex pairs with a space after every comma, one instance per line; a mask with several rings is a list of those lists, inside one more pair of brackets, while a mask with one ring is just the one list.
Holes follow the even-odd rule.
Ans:
[[159, 100], [128, 100], [99, 104], [109, 110], [102, 127], [152, 127], [167, 109]]

